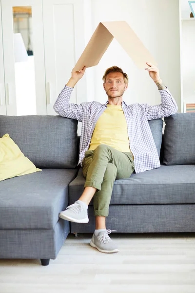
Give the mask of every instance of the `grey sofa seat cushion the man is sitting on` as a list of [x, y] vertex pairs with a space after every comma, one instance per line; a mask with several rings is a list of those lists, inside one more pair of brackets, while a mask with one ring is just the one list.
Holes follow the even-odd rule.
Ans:
[[[82, 169], [69, 185], [69, 203], [80, 196]], [[111, 205], [195, 204], [195, 165], [161, 166], [116, 180]], [[91, 201], [90, 204], [93, 204]]]

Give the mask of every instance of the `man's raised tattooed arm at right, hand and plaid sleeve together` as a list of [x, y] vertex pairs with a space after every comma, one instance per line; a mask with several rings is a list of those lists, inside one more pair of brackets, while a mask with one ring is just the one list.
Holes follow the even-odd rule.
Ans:
[[168, 117], [170, 115], [175, 114], [178, 110], [176, 101], [171, 95], [170, 91], [167, 89], [167, 87], [164, 84], [162, 84], [158, 68], [151, 63], [147, 62], [146, 64], [149, 66], [146, 68], [146, 70], [149, 72], [150, 77], [156, 83], [161, 95], [160, 105], [140, 105], [142, 110], [145, 112], [147, 119], [152, 120], [157, 118]]

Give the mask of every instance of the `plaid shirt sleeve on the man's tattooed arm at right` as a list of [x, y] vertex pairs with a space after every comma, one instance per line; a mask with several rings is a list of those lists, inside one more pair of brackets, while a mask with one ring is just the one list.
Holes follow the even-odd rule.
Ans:
[[151, 106], [148, 104], [140, 104], [142, 110], [146, 114], [147, 120], [168, 117], [178, 110], [176, 101], [171, 95], [168, 88], [159, 90], [161, 95], [161, 104]]

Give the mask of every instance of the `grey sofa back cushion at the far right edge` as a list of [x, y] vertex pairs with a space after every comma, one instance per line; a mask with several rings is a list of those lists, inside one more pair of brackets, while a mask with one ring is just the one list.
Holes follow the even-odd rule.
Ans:
[[195, 164], [195, 113], [176, 113], [164, 120], [163, 164]]

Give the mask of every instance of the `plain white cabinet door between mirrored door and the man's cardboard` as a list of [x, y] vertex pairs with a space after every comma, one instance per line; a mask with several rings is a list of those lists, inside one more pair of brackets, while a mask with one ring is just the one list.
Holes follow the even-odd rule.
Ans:
[[[53, 104], [84, 49], [83, 24], [83, 1], [43, 0], [48, 115], [56, 114]], [[72, 103], [77, 103], [76, 95], [77, 91], [73, 91]]]

